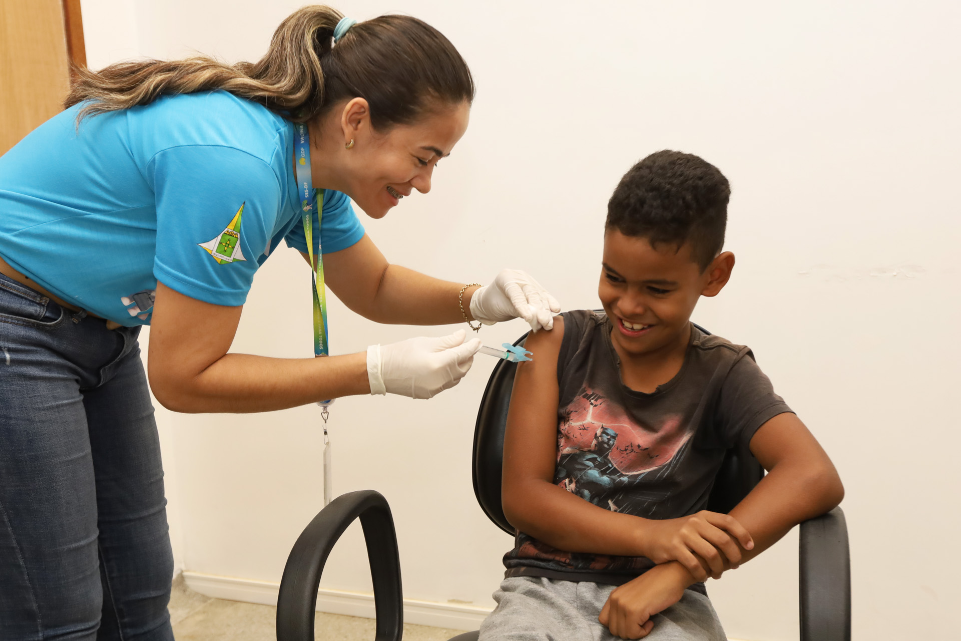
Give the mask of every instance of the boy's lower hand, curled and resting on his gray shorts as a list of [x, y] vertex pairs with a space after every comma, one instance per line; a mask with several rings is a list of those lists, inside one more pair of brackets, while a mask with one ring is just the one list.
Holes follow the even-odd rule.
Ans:
[[614, 636], [643, 638], [654, 627], [651, 617], [678, 603], [693, 579], [678, 563], [657, 565], [637, 579], [614, 588], [598, 621]]

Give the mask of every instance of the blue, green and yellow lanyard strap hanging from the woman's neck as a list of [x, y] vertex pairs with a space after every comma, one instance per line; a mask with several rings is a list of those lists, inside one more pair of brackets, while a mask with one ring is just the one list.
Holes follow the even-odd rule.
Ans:
[[327, 298], [324, 295], [324, 255], [321, 251], [320, 226], [324, 215], [324, 192], [314, 193], [310, 177], [310, 139], [305, 123], [294, 123], [294, 167], [297, 173], [297, 193], [300, 198], [301, 212], [304, 216], [304, 237], [307, 240], [307, 254], [310, 264], [313, 259], [313, 201], [316, 197], [317, 208], [317, 267], [310, 270], [313, 284], [313, 355], [326, 357], [329, 354], [327, 343]]

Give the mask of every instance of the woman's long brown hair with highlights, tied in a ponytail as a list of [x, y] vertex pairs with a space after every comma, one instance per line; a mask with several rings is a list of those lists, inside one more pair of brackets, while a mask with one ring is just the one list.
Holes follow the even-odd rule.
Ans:
[[287, 16], [259, 62], [227, 64], [205, 56], [180, 61], [76, 69], [65, 107], [86, 115], [146, 105], [160, 95], [224, 89], [294, 122], [322, 115], [343, 99], [370, 105], [375, 129], [408, 124], [440, 105], [474, 100], [470, 69], [450, 40], [422, 20], [382, 15], [358, 22], [333, 44], [343, 14], [312, 5]]

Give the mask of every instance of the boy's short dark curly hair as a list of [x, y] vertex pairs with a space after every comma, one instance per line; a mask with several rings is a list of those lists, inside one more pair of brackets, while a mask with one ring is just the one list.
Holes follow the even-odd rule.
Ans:
[[643, 236], [652, 246], [691, 243], [705, 269], [724, 247], [730, 185], [710, 162], [659, 151], [632, 166], [607, 202], [604, 230]]

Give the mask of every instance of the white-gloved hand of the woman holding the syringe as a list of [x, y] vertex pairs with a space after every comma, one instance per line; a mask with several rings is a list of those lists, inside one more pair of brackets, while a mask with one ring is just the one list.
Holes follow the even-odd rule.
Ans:
[[460, 382], [474, 364], [480, 338], [466, 340], [467, 331], [449, 336], [407, 338], [367, 348], [367, 379], [371, 394], [401, 394], [429, 399]]

